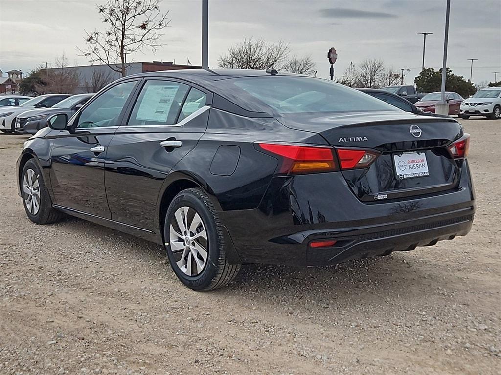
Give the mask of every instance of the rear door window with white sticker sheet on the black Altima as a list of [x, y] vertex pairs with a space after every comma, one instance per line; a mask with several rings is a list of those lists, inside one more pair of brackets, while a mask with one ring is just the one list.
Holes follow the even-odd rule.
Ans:
[[148, 80], [134, 104], [129, 126], [176, 123], [180, 105], [189, 86], [167, 80]]

